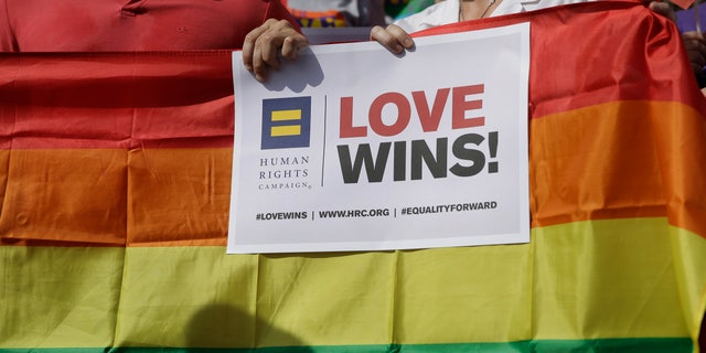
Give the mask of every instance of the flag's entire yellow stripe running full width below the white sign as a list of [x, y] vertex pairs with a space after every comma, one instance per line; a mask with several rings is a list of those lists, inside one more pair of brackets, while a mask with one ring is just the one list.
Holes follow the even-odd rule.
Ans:
[[523, 245], [409, 252], [4, 246], [0, 313], [12, 325], [2, 345], [684, 338], [703, 314], [705, 253], [706, 239], [663, 217], [535, 228]]

